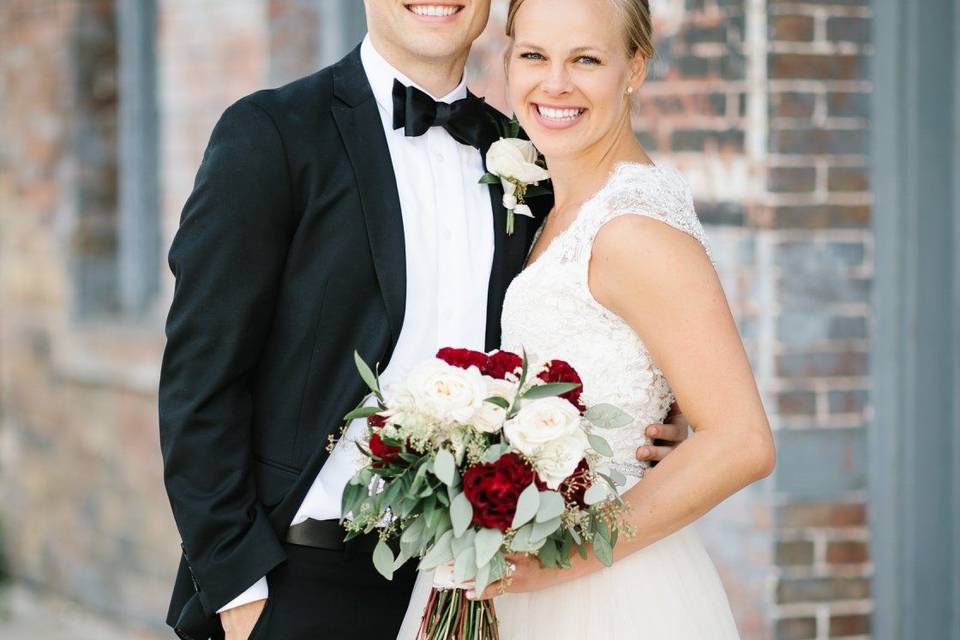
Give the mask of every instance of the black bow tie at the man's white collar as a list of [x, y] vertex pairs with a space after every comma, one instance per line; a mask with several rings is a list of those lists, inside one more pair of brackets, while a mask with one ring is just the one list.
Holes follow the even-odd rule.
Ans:
[[[456, 102], [437, 102], [416, 87], [393, 81], [393, 128], [407, 136], [422, 136], [430, 127], [443, 127], [460, 144], [483, 149], [492, 140], [493, 124], [483, 109], [483, 99], [467, 92]], [[495, 137], [495, 134], [494, 134]]]

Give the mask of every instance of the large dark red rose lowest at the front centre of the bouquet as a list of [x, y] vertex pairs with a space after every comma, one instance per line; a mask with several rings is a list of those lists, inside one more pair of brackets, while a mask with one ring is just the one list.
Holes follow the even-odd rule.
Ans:
[[500, 531], [509, 529], [517, 500], [533, 479], [533, 469], [515, 453], [467, 469], [463, 474], [463, 492], [473, 505], [473, 524]]

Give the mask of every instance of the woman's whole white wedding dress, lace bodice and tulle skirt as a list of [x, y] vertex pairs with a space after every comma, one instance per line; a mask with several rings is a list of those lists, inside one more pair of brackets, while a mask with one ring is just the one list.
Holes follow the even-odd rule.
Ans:
[[[663, 372], [639, 336], [590, 293], [594, 238], [621, 215], [659, 220], [699, 240], [703, 228], [686, 181], [672, 169], [619, 164], [604, 187], [533, 264], [517, 276], [503, 305], [503, 348], [533, 360], [561, 358], [583, 379], [583, 399], [609, 402], [634, 416], [607, 435], [626, 491], [646, 464], [643, 430], [661, 422], [673, 402]], [[709, 249], [707, 249], [709, 252]], [[656, 310], [651, 310], [655, 313]], [[415, 638], [430, 576], [421, 575], [399, 638]], [[503, 640], [728, 640], [739, 638], [727, 596], [696, 532], [684, 528], [578, 580], [496, 599]]]

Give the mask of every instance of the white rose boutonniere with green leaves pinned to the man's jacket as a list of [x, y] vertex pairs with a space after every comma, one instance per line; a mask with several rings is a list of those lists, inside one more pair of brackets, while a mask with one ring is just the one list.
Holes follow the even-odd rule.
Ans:
[[507, 210], [507, 235], [513, 234], [515, 216], [533, 217], [525, 196], [530, 187], [536, 187], [550, 174], [543, 166], [543, 159], [529, 140], [501, 138], [494, 142], [486, 157], [487, 173], [480, 179], [483, 184], [503, 187], [503, 206]]

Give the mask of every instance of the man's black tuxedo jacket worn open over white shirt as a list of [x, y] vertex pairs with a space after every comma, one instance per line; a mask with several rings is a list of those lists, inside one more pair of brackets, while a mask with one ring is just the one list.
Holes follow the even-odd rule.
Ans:
[[[491, 186], [488, 349], [537, 226], [518, 216], [507, 236], [501, 198]], [[400, 201], [359, 49], [226, 110], [169, 264], [160, 441], [184, 553], [167, 622], [207, 637], [217, 609], [285, 560], [328, 436], [365, 395], [354, 349], [382, 369], [403, 323]]]

